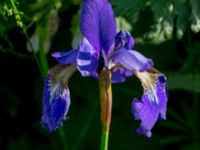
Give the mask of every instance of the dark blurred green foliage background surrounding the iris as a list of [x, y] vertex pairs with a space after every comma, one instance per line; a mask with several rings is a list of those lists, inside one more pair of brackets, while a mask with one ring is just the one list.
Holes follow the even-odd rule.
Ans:
[[[110, 2], [119, 29], [130, 30], [136, 39], [134, 49], [152, 58], [155, 67], [168, 77], [169, 101], [167, 120], [157, 122], [148, 139], [136, 134], [139, 122], [131, 114], [132, 99], [142, 95], [141, 83], [131, 77], [114, 84], [109, 149], [199, 150], [200, 1]], [[40, 124], [44, 77], [48, 66], [56, 64], [50, 53], [71, 50], [72, 43], [77, 44], [81, 3], [0, 2], [1, 150], [99, 149], [98, 82], [93, 78], [83, 78], [77, 72], [70, 79], [72, 103], [62, 129], [49, 134]], [[27, 48], [33, 35], [39, 42], [39, 46], [32, 42], [36, 53]]]

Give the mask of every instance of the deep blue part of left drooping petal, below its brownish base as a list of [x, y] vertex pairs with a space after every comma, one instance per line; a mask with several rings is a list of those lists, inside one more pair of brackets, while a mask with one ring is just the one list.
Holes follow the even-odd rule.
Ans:
[[51, 77], [48, 75], [43, 93], [42, 125], [52, 132], [59, 128], [65, 119], [70, 106], [70, 94], [68, 89], [59, 85], [52, 95], [50, 80]]

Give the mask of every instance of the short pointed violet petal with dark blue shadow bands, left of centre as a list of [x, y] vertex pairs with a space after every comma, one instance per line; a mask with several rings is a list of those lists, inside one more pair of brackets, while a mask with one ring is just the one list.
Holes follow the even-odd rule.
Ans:
[[82, 76], [94, 74], [98, 66], [99, 53], [93, 48], [89, 41], [84, 38], [78, 47], [77, 67]]

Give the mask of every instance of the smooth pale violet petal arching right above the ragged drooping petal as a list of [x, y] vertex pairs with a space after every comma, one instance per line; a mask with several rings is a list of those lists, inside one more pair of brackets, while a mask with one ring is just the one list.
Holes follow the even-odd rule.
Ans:
[[153, 66], [153, 61], [144, 57], [137, 51], [120, 49], [115, 51], [109, 58], [115, 65], [121, 64], [129, 71], [143, 72]]

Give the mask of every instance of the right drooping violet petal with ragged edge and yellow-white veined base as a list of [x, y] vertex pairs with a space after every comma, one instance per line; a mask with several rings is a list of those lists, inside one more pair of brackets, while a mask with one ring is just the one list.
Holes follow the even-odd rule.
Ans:
[[137, 132], [151, 137], [156, 121], [166, 119], [167, 81], [163, 74], [153, 68], [143, 73], [137, 72], [136, 76], [142, 82], [144, 94], [141, 101], [133, 100], [132, 113], [136, 120], [141, 120]]

